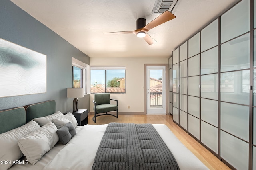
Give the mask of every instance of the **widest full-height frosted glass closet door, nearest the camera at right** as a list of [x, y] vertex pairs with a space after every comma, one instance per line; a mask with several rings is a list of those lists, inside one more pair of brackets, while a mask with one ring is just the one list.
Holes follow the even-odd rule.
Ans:
[[220, 16], [220, 21], [220, 156], [234, 168], [246, 170], [249, 165], [250, 0], [240, 1]]

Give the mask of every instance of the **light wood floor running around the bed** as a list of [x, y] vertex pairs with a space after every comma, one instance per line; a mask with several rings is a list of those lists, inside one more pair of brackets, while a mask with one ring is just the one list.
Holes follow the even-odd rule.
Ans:
[[188, 133], [182, 130], [172, 121], [172, 115], [118, 115], [118, 118], [104, 115], [97, 117], [97, 123], [92, 121], [93, 115], [88, 116], [88, 124], [107, 124], [110, 122], [119, 123], [151, 123], [165, 124], [180, 139], [180, 141], [198, 157], [210, 170], [230, 170], [223, 162], [221, 162], [210, 151], [198, 143]]

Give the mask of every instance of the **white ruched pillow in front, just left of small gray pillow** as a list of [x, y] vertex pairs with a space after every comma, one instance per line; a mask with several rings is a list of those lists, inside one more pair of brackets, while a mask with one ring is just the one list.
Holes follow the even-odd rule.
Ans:
[[57, 130], [56, 126], [49, 121], [36, 131], [18, 139], [20, 150], [30, 164], [36, 164], [59, 141]]

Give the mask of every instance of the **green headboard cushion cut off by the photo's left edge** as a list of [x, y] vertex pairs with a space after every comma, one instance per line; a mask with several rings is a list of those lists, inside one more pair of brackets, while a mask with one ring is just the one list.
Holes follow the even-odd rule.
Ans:
[[0, 133], [4, 133], [26, 124], [24, 107], [0, 111]]

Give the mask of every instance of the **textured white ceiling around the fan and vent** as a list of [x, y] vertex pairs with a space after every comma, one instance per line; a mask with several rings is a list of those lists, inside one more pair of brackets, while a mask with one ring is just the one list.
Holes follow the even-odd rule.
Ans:
[[136, 20], [148, 24], [155, 0], [11, 0], [89, 57], [169, 57], [186, 39], [200, 31], [239, 0], [178, 0], [176, 16], [148, 31], [157, 43], [148, 45], [134, 34]]

